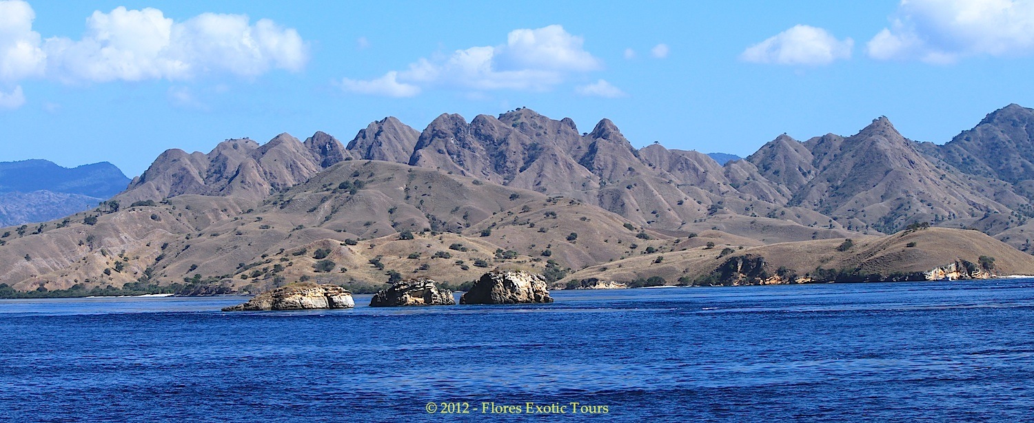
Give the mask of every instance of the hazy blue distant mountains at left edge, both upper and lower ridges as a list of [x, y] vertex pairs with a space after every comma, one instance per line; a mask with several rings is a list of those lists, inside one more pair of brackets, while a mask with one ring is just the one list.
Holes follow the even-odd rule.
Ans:
[[126, 188], [109, 162], [63, 168], [48, 160], [0, 162], [0, 225], [47, 221], [96, 207]]

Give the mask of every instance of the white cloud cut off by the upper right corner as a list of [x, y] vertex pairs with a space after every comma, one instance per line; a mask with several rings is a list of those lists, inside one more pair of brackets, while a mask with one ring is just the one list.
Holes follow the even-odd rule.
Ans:
[[1034, 52], [1034, 1], [907, 0], [866, 46], [878, 60], [953, 63]]

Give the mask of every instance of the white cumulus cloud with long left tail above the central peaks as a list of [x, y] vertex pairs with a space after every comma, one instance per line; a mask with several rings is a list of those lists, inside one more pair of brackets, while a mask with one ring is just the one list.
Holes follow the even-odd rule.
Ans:
[[407, 69], [376, 80], [343, 79], [341, 88], [360, 94], [417, 95], [423, 88], [549, 90], [575, 72], [601, 68], [584, 40], [559, 25], [511, 31], [500, 46], [474, 47], [423, 58]]

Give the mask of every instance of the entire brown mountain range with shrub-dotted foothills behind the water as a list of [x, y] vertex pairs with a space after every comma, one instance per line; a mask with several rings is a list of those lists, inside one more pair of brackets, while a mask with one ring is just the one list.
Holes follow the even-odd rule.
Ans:
[[[1034, 111], [1010, 104], [940, 146], [880, 117], [847, 137], [780, 135], [724, 165], [659, 144], [636, 149], [607, 119], [581, 131], [524, 108], [469, 122], [443, 114], [423, 131], [388, 117], [346, 144], [324, 132], [227, 140], [207, 154], [165, 151], [96, 209], [3, 230], [0, 281], [22, 291], [138, 280], [254, 291], [300, 278], [357, 288], [403, 276], [461, 282], [501, 265], [562, 281], [638, 269], [643, 258], [697, 277], [717, 269], [704, 263], [736, 255], [719, 246], [840, 245], [920, 223], [997, 251], [1001, 269], [1034, 271], [1029, 255], [993, 247], [1030, 248], [1032, 121]], [[952, 254], [975, 263], [976, 252], [915, 255], [927, 258], [916, 266]]]

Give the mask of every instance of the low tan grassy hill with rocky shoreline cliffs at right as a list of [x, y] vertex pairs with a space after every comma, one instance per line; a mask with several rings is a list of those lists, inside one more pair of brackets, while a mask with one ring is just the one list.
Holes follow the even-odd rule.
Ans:
[[[951, 274], [955, 271], [959, 274]], [[1029, 254], [977, 231], [930, 228], [889, 236], [749, 247], [716, 242], [713, 246], [678, 248], [591, 266], [554, 285], [577, 286], [582, 280], [707, 285], [927, 280], [990, 275], [1034, 275], [1034, 261]], [[661, 279], [645, 281], [651, 277]]]

